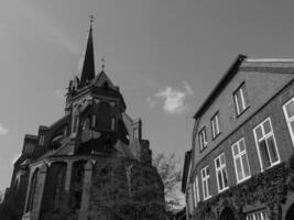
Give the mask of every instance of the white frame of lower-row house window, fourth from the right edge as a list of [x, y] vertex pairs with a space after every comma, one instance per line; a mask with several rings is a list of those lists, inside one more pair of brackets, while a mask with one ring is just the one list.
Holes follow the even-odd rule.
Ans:
[[[224, 164], [221, 164], [221, 156], [224, 156]], [[219, 167], [217, 167], [217, 161], [219, 161]], [[228, 172], [227, 172], [227, 164], [226, 164], [226, 155], [225, 153], [219, 154], [216, 158], [215, 158], [215, 167], [216, 167], [216, 178], [217, 178], [217, 189], [218, 193], [225, 191], [226, 189], [229, 188], [229, 177], [228, 177]], [[220, 173], [221, 179], [218, 179], [218, 174]], [[224, 174], [226, 173], [227, 175], [227, 186], [225, 186], [225, 176]], [[222, 183], [224, 188], [220, 188], [220, 183]]]

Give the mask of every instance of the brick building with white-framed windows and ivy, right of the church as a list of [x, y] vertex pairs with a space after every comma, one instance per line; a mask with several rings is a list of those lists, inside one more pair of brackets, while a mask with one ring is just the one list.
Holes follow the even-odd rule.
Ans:
[[294, 219], [294, 59], [238, 56], [194, 119], [187, 219]]

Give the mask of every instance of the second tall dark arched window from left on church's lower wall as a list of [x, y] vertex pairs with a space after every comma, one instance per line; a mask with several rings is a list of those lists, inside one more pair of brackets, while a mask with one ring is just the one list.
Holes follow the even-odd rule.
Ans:
[[56, 187], [55, 187], [55, 194], [54, 194], [54, 209], [59, 209], [62, 206], [64, 185], [65, 185], [65, 166], [61, 167], [56, 176]]

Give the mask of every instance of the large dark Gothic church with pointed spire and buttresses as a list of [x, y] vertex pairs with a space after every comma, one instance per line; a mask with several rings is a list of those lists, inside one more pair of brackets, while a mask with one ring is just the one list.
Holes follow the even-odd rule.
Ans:
[[24, 136], [3, 204], [22, 220], [163, 219], [164, 186], [142, 121], [118, 86], [95, 70], [92, 22], [65, 114]]

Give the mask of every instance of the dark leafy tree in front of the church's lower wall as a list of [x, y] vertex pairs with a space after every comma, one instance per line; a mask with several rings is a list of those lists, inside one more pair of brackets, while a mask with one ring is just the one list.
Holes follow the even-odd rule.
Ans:
[[123, 161], [96, 168], [90, 219], [164, 219], [163, 190], [149, 165]]

